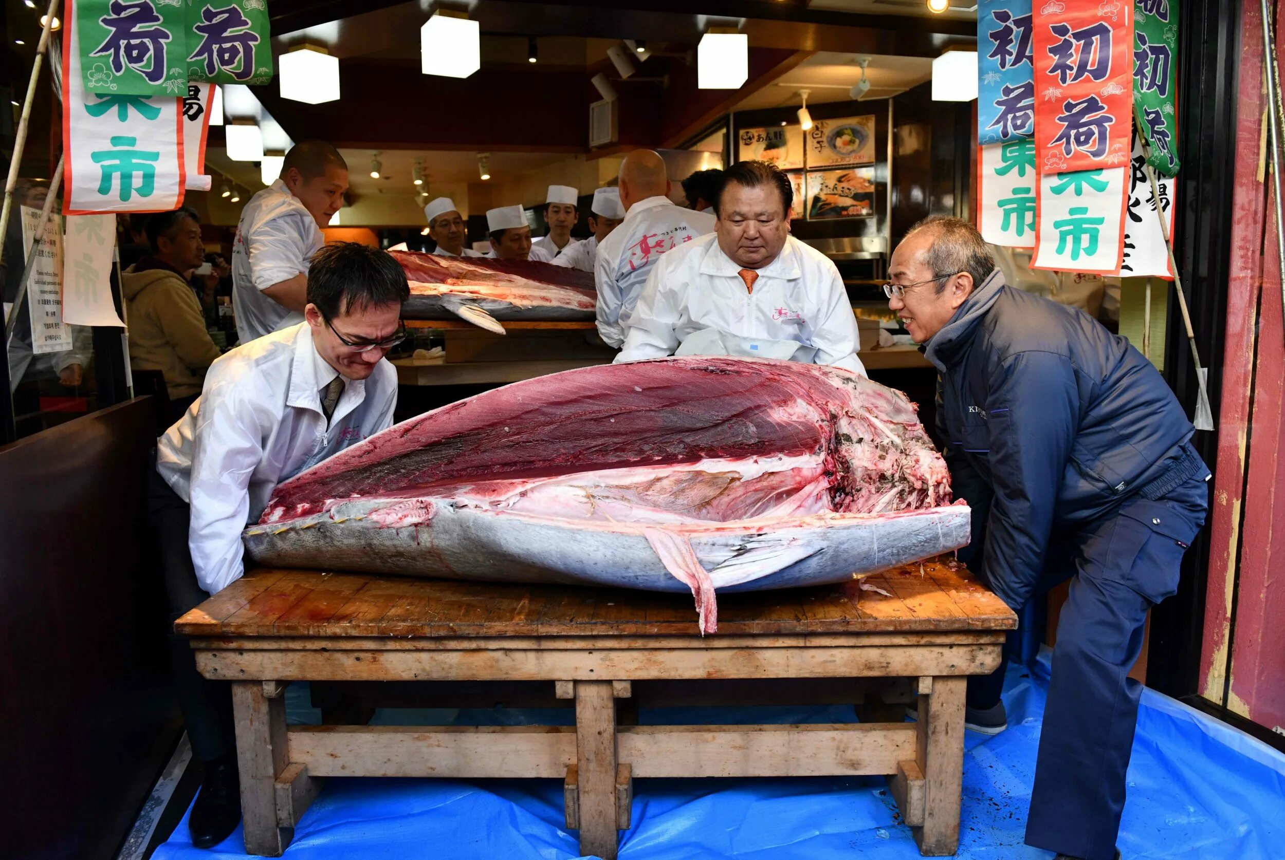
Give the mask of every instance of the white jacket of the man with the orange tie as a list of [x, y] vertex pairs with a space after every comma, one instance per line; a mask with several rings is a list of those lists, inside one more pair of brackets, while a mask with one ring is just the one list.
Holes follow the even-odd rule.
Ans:
[[865, 375], [857, 358], [857, 318], [829, 257], [788, 236], [776, 259], [757, 270], [753, 293], [739, 271], [712, 234], [662, 257], [625, 322], [617, 363], [669, 356], [687, 335], [718, 329], [743, 338], [793, 340], [815, 348], [817, 365]]

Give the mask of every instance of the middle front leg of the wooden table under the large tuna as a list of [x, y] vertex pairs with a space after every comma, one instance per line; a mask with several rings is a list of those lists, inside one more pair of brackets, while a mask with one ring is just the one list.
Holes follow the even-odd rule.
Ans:
[[576, 682], [580, 852], [616, 860], [616, 700], [612, 682]]

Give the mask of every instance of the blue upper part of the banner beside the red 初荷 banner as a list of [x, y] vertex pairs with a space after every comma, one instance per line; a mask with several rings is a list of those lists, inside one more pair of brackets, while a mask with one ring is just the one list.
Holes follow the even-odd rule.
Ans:
[[982, 0], [977, 9], [978, 142], [1034, 133], [1031, 0]]

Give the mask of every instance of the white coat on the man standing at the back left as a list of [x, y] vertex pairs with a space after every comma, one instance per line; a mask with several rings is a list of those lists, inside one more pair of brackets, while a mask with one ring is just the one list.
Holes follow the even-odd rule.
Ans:
[[272, 180], [242, 209], [233, 241], [233, 313], [242, 343], [303, 322], [303, 314], [262, 290], [307, 273], [325, 239], [317, 222], [281, 180]]

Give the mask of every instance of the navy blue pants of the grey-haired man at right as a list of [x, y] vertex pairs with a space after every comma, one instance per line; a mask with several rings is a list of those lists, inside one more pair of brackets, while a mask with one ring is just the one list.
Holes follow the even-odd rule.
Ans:
[[[1201, 475], [1204, 477], [1204, 475]], [[1027, 845], [1112, 860], [1142, 685], [1128, 678], [1146, 611], [1178, 588], [1204, 525], [1208, 484], [1127, 501], [1073, 535], [1076, 571], [1058, 623]]]

